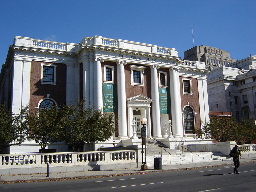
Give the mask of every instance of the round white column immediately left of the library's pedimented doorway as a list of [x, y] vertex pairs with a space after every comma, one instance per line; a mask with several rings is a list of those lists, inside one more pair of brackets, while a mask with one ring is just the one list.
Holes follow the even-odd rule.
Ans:
[[126, 119], [126, 93], [124, 66], [125, 61], [117, 61], [117, 101], [118, 101], [118, 139], [128, 138], [127, 136], [127, 119]]

